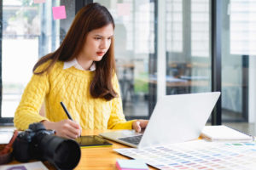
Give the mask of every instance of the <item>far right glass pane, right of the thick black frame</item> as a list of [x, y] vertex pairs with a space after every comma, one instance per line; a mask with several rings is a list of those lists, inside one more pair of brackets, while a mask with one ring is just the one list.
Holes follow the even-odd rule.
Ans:
[[[229, 0], [222, 3], [222, 120], [224, 124], [253, 134], [248, 131], [252, 127], [247, 122], [254, 122], [256, 111], [253, 108], [256, 2]], [[237, 122], [244, 123], [237, 127]]]

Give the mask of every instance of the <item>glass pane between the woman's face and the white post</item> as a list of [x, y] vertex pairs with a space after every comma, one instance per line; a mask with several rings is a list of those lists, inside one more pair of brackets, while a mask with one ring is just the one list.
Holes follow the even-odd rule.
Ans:
[[[115, 21], [114, 46], [117, 75], [125, 116], [148, 117], [150, 69], [154, 55], [154, 1], [96, 0], [106, 6]], [[151, 68], [149, 68], [151, 67]]]

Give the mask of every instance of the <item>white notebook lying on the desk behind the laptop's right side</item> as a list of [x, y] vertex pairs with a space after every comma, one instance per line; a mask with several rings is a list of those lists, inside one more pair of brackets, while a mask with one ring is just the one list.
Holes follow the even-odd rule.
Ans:
[[201, 132], [201, 137], [211, 141], [218, 140], [236, 140], [236, 141], [252, 141], [252, 136], [241, 133], [231, 127], [224, 125], [220, 126], [206, 126]]

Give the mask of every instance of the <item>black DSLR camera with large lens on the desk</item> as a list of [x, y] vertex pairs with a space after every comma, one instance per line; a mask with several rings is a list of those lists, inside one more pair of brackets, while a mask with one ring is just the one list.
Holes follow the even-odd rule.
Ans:
[[81, 156], [79, 144], [54, 134], [55, 131], [46, 130], [41, 122], [30, 124], [15, 139], [15, 159], [23, 162], [31, 159], [49, 161], [58, 169], [73, 169], [78, 165]]

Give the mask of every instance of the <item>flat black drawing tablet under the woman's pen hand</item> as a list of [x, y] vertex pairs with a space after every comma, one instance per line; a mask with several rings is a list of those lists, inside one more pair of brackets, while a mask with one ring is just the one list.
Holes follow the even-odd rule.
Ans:
[[78, 139], [75, 140], [81, 148], [109, 147], [113, 145], [109, 143], [106, 139], [102, 139], [102, 137], [96, 135], [80, 136]]

